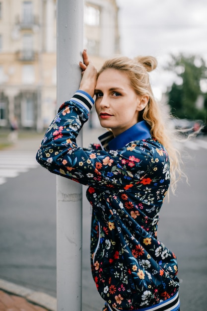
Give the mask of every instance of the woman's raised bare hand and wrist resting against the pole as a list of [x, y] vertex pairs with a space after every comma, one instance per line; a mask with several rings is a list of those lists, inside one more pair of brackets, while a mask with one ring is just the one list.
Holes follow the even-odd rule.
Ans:
[[96, 86], [97, 70], [94, 65], [89, 61], [86, 50], [83, 50], [83, 63], [79, 62], [82, 69], [82, 79], [80, 81], [79, 89], [87, 92], [91, 97], [94, 96], [94, 89]]

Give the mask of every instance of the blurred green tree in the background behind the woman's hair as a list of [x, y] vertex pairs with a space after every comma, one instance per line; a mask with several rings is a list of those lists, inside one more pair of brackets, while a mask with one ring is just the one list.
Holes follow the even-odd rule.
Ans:
[[[201, 89], [202, 81], [207, 81], [207, 67], [199, 56], [171, 55], [168, 71], [177, 75], [177, 82], [173, 82], [167, 92], [172, 114], [178, 118], [207, 120], [207, 93]], [[205, 99], [204, 107], [198, 108], [196, 102], [202, 95]]]

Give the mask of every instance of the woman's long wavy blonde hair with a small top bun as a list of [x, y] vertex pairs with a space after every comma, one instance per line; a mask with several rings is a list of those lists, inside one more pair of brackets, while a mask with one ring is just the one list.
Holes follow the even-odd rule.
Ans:
[[98, 76], [106, 69], [122, 71], [131, 81], [131, 85], [138, 95], [148, 95], [149, 101], [146, 107], [139, 112], [138, 121], [145, 120], [151, 127], [151, 135], [167, 150], [170, 159], [171, 189], [173, 193], [176, 183], [183, 174], [180, 153], [174, 146], [177, 137], [169, 128], [170, 115], [163, 115], [160, 104], [155, 100], [148, 72], [157, 67], [157, 60], [152, 56], [138, 56], [135, 59], [128, 57], [116, 57], [105, 61], [98, 72]]

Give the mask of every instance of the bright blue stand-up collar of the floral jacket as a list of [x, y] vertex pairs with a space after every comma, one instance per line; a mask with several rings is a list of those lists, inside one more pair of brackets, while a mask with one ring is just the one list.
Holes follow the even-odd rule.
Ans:
[[131, 128], [114, 137], [112, 132], [106, 132], [99, 137], [101, 146], [106, 151], [118, 150], [132, 141], [150, 138], [150, 127], [146, 121], [140, 121]]

